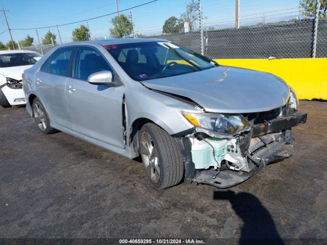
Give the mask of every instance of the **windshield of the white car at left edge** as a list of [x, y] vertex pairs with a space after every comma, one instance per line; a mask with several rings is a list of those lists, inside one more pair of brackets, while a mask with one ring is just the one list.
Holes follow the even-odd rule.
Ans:
[[0, 67], [11, 67], [21, 65], [34, 65], [36, 59], [40, 57], [37, 53], [12, 53], [0, 55]]

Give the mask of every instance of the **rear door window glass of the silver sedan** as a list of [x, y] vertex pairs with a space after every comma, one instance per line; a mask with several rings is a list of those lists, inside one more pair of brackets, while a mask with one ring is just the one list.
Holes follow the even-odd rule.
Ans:
[[68, 76], [69, 59], [71, 58], [72, 52], [73, 47], [60, 48], [46, 60], [41, 71]]

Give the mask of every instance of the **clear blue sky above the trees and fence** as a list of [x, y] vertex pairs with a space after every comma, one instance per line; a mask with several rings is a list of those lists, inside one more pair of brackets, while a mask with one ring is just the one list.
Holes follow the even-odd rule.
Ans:
[[[124, 10], [141, 5], [151, 0], [119, 0], [119, 9]], [[299, 15], [299, 0], [239, 0], [240, 23], [242, 25], [287, 20]], [[179, 17], [190, 0], [158, 0], [132, 10], [136, 33], [158, 34], [165, 20], [171, 16]], [[64, 24], [101, 16], [116, 11], [115, 0], [0, 0], [5, 10], [9, 10], [7, 18], [11, 29], [33, 28], [33, 30], [12, 30], [15, 41], [24, 39], [27, 34], [37, 41], [34, 28]], [[204, 25], [215, 28], [232, 27], [235, 22], [235, 0], [201, 0]], [[3, 13], [0, 13], [0, 33], [7, 29]], [[110, 20], [115, 15], [89, 21], [92, 37], [109, 37]], [[59, 27], [63, 42], [71, 41], [72, 31], [80, 24], [69, 24]], [[57, 28], [38, 29], [40, 38], [46, 32], [58, 34]], [[0, 34], [0, 41], [10, 40], [8, 31]], [[57, 35], [58, 40], [58, 35]]]

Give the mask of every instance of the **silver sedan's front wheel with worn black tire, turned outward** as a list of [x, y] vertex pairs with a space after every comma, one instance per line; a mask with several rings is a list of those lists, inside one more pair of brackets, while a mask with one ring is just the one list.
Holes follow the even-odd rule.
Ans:
[[[151, 147], [149, 148], [147, 142], [151, 142], [152, 154], [149, 154]], [[155, 124], [145, 124], [139, 135], [139, 153], [155, 189], [165, 189], [181, 181], [184, 174], [181, 153], [173, 137], [165, 130]], [[159, 175], [157, 178], [154, 176], [156, 174]]]

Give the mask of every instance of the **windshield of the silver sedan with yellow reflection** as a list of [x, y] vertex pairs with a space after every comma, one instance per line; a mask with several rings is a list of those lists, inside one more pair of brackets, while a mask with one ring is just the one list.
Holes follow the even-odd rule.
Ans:
[[134, 80], [165, 78], [217, 66], [214, 61], [170, 42], [124, 43], [104, 46]]

